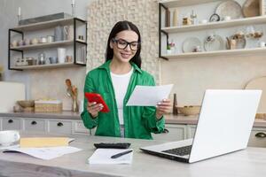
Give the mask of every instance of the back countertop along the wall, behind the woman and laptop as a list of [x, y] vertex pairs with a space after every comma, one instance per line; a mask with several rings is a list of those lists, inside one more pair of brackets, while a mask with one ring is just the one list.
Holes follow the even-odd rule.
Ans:
[[[79, 112], [49, 112], [49, 113], [35, 113], [35, 112], [0, 112], [0, 117], [12, 118], [40, 118], [40, 119], [81, 119]], [[167, 124], [191, 124], [196, 125], [198, 116], [184, 116], [167, 114], [165, 116]], [[255, 119], [254, 127], [266, 127], [266, 119]]]

